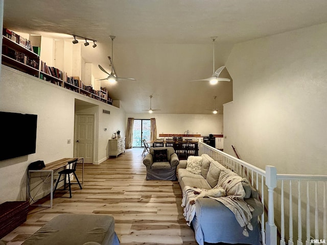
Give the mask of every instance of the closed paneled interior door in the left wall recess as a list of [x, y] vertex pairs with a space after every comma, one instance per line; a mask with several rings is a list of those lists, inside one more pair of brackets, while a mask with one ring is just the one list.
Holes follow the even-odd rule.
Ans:
[[77, 115], [76, 155], [84, 163], [93, 163], [94, 115]]

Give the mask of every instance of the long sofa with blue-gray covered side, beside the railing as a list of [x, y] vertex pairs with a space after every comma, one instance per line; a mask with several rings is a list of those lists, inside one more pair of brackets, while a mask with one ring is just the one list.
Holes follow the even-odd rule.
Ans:
[[[206, 154], [202, 154], [201, 174], [191, 173], [186, 167], [187, 160], [181, 160], [178, 167], [178, 181], [183, 190], [188, 187], [200, 189], [212, 189], [218, 183], [221, 173], [231, 170], [214, 161]], [[235, 173], [233, 173], [235, 175]], [[195, 214], [190, 220], [190, 226], [194, 228], [196, 241], [202, 245], [208, 243], [242, 243], [261, 244], [261, 233], [258, 225], [258, 216], [263, 213], [263, 206], [258, 200], [258, 192], [248, 183], [242, 183], [245, 195], [244, 201], [253, 207], [250, 223], [252, 230], [247, 229], [248, 236], [245, 236], [242, 228], [236, 219], [235, 214], [223, 203], [212, 198], [199, 198], [195, 202]], [[185, 187], [186, 186], [186, 187]], [[185, 187], [185, 188], [184, 188]], [[194, 209], [193, 209], [194, 210]], [[184, 216], [185, 209], [184, 209]]]

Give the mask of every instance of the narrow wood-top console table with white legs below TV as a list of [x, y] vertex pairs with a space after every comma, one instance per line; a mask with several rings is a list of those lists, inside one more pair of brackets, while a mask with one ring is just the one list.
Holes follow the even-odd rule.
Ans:
[[[49, 181], [50, 179], [50, 204], [37, 204], [37, 205], [31, 205], [31, 206], [39, 206], [39, 207], [49, 207], [52, 208], [52, 200], [53, 200], [53, 176], [55, 171], [58, 171], [60, 168], [65, 167], [68, 165], [69, 161], [72, 161], [76, 159], [76, 157], [74, 158], [62, 158], [60, 160], [48, 163], [45, 165], [45, 167], [43, 167], [42, 169], [38, 169], [38, 170], [28, 170], [28, 195], [31, 198], [32, 201], [34, 201], [34, 198], [36, 197], [36, 195], [39, 193], [40, 190], [43, 190], [42, 187], [44, 184], [47, 183], [47, 181]], [[78, 163], [82, 164], [82, 184], [84, 184], [84, 158], [77, 158], [78, 159]], [[32, 173], [46, 173], [47, 176], [45, 176], [44, 179], [42, 179], [42, 183], [40, 183], [37, 187], [38, 189], [36, 190], [35, 194], [33, 195], [33, 197], [31, 197], [31, 174]], [[36, 187], [35, 187], [36, 188]], [[34, 201], [36, 202], [36, 201]]]

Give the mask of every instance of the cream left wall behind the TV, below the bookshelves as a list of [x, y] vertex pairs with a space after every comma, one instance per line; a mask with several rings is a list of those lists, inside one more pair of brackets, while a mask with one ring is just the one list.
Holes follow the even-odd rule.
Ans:
[[[34, 78], [7, 66], [2, 66], [0, 80], [0, 110], [37, 114], [36, 153], [0, 161], [0, 203], [27, 200], [27, 167], [36, 160], [49, 163], [64, 157], [73, 157], [75, 100], [97, 107], [95, 160], [108, 156], [111, 131], [120, 128], [125, 134], [125, 111], [94, 99]], [[110, 115], [102, 114], [102, 109]], [[81, 108], [80, 108], [81, 110]], [[81, 111], [79, 111], [81, 113]], [[104, 132], [102, 128], [107, 127]]]

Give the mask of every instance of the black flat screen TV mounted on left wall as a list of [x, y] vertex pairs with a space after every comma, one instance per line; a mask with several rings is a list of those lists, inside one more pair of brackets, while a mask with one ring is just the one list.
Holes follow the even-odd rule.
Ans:
[[0, 161], [35, 153], [37, 115], [0, 112]]

